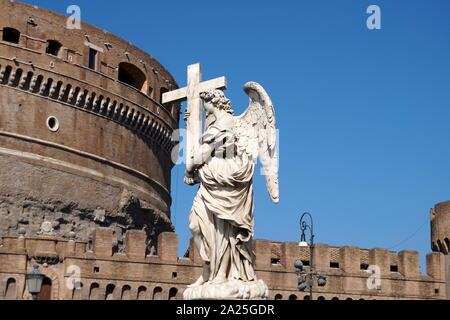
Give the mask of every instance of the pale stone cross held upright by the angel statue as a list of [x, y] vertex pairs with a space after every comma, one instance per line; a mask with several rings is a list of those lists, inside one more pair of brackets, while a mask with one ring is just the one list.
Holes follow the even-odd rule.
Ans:
[[225, 77], [202, 82], [202, 68], [200, 63], [188, 66], [188, 85], [185, 88], [164, 93], [162, 104], [174, 101], [186, 101], [189, 118], [187, 119], [186, 137], [186, 164], [193, 161], [194, 154], [200, 148], [200, 138], [202, 136], [202, 100], [200, 93], [215, 89], [225, 90], [227, 79]]

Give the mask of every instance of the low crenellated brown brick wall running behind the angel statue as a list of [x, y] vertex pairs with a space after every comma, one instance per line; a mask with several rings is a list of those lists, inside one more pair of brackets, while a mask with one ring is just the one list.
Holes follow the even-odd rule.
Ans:
[[[159, 235], [156, 255], [146, 254], [147, 236], [143, 231], [126, 233], [123, 252], [114, 252], [113, 248], [113, 232], [107, 228], [97, 229], [92, 242], [50, 236], [4, 237], [0, 247], [0, 297], [2, 292], [6, 294], [8, 280], [23, 286], [24, 275], [34, 263], [41, 264], [42, 272], [60, 283], [58, 299], [122, 299], [123, 288], [127, 297], [131, 294], [128, 288], [133, 291], [130, 299], [139, 298], [138, 292], [144, 288], [142, 299], [181, 298], [186, 285], [201, 273], [202, 260], [193, 245], [185, 257], [178, 256], [175, 233]], [[293, 263], [301, 259], [308, 265], [308, 248], [300, 248], [295, 242], [255, 240], [254, 250], [257, 274], [269, 286], [271, 298], [307, 296], [297, 291]], [[314, 289], [323, 299], [446, 298], [445, 257], [441, 253], [427, 255], [426, 274], [421, 274], [416, 251], [395, 253], [323, 244], [314, 250], [315, 267], [328, 277], [327, 286]], [[367, 269], [374, 265], [380, 268], [381, 286], [369, 289], [367, 281], [372, 274]], [[64, 288], [73, 266], [79, 269], [83, 283], [80, 290]], [[24, 292], [23, 287], [20, 292]]]

